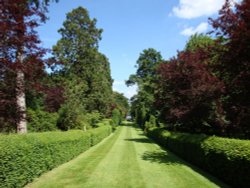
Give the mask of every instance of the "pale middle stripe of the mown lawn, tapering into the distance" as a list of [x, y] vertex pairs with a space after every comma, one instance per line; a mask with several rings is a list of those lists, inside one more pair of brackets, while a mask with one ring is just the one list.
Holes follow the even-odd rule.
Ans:
[[135, 161], [134, 146], [125, 141], [130, 137], [130, 130], [122, 127], [119, 139], [84, 187], [144, 187], [137, 161]]

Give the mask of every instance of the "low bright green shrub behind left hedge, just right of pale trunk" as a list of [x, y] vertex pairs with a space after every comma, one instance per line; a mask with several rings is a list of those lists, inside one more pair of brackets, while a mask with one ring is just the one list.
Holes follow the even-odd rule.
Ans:
[[31, 132], [45, 132], [57, 130], [57, 113], [49, 113], [41, 109], [27, 111], [28, 130]]

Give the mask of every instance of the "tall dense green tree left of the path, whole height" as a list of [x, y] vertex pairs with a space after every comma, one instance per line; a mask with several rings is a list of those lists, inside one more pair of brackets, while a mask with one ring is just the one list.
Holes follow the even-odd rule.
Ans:
[[[96, 19], [78, 7], [66, 16], [59, 29], [61, 39], [53, 47], [57, 61], [63, 62], [65, 104], [60, 112], [60, 127], [74, 128], [84, 114], [100, 112], [106, 116], [112, 102], [112, 79], [107, 57], [98, 52], [102, 29]], [[75, 122], [75, 123], [74, 123]]]

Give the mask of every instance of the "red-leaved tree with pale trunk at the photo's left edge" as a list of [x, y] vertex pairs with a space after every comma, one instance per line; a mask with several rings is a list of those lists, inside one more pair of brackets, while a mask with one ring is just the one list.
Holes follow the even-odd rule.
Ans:
[[[12, 103], [16, 108], [16, 124], [18, 133], [26, 133], [26, 101], [25, 101], [25, 80], [41, 76], [44, 70], [42, 57], [45, 50], [39, 48], [40, 43], [35, 28], [39, 22], [45, 22], [46, 7], [42, 10], [35, 6], [32, 1], [1, 0], [0, 1], [0, 61], [1, 61], [1, 82], [15, 77], [13, 88], [1, 88], [7, 91], [14, 91], [15, 100], [1, 96], [1, 103], [9, 105]], [[11, 75], [11, 76], [10, 76]], [[1, 91], [2, 94], [2, 91]], [[10, 94], [12, 95], [12, 94]], [[0, 110], [1, 111], [1, 110]]]

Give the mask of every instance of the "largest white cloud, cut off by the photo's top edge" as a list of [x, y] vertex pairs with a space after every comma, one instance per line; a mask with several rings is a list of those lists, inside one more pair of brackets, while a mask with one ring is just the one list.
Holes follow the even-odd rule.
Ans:
[[225, 0], [179, 0], [179, 5], [173, 8], [173, 14], [180, 18], [197, 18], [217, 13]]

